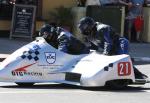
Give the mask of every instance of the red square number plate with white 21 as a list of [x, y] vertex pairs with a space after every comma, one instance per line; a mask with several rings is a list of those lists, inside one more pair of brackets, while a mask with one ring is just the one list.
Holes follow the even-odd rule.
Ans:
[[118, 75], [127, 76], [131, 74], [131, 64], [130, 62], [120, 62], [118, 63]]

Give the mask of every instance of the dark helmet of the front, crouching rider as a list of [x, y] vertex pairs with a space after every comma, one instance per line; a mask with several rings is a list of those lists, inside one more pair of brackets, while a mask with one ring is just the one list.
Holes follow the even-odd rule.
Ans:
[[[46, 34], [44, 32], [46, 32]], [[49, 24], [43, 25], [39, 31], [39, 36], [42, 36], [45, 39], [47, 39], [48, 36], [53, 36], [54, 34], [56, 34], [56, 28]]]

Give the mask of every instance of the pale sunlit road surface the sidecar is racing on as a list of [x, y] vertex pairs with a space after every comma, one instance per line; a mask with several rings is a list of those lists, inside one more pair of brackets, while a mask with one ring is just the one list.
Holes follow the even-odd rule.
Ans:
[[[150, 77], [150, 64], [137, 64]], [[81, 88], [64, 84], [36, 84], [18, 87], [0, 83], [0, 103], [149, 103], [150, 83], [129, 86], [122, 90]]]

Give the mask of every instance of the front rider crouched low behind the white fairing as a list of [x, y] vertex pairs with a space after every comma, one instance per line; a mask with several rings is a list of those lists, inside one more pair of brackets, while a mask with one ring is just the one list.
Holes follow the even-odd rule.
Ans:
[[41, 27], [39, 36], [42, 36], [50, 45], [65, 53], [89, 53], [89, 49], [80, 40], [61, 27], [45, 24]]

